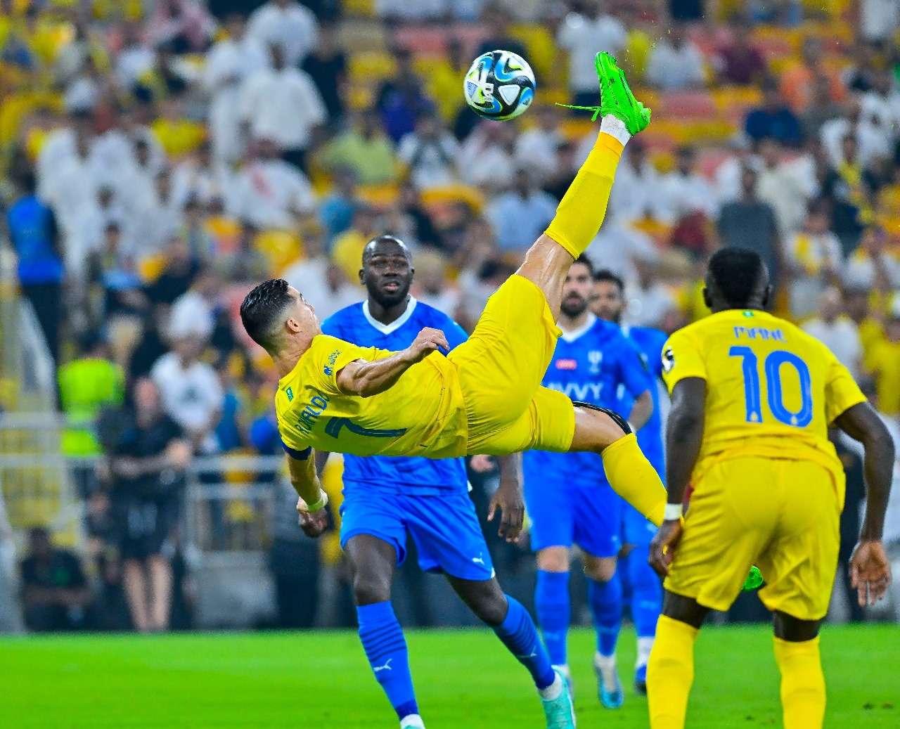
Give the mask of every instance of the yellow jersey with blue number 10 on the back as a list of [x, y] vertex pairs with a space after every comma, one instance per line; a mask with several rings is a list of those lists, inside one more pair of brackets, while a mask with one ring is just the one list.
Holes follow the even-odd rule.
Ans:
[[662, 379], [707, 381], [703, 444], [695, 478], [714, 460], [759, 455], [841, 468], [828, 427], [866, 401], [822, 342], [765, 311], [711, 314], [671, 335]]

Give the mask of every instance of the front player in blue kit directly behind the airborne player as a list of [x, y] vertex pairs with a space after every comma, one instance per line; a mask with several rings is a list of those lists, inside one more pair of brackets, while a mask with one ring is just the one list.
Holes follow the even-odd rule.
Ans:
[[[431, 327], [445, 333], [450, 349], [462, 344], [463, 329], [410, 296], [413, 273], [410, 251], [400, 240], [375, 238], [365, 247], [359, 272], [367, 300], [335, 313], [322, 324], [322, 332], [363, 347], [399, 350], [408, 347], [421, 329]], [[327, 457], [317, 453], [317, 463], [324, 464]], [[518, 536], [524, 516], [518, 457], [500, 458], [500, 488], [489, 514], [493, 518], [501, 510], [500, 536], [509, 541]], [[491, 554], [467, 492], [462, 458], [347, 454], [341, 511], [341, 546], [353, 574], [359, 637], [401, 727], [425, 726], [406, 640], [391, 606], [393, 573], [406, 555], [408, 535], [419, 552], [421, 568], [444, 572], [466, 605], [530, 671], [543, 700], [547, 727], [573, 725], [568, 691], [551, 666], [534, 622], [518, 601], [504, 595], [494, 577]]]

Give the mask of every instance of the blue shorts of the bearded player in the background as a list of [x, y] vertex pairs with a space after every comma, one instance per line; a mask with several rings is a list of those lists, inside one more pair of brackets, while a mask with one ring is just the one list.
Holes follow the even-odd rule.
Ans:
[[[542, 452], [526, 454], [525, 504], [531, 519], [531, 548], [579, 545], [595, 557], [614, 557], [622, 546], [620, 538], [622, 500], [606, 481], [603, 465], [588, 481], [571, 473], [555, 473], [548, 466], [556, 458], [545, 459]], [[550, 454], [571, 459], [570, 454]], [[537, 456], [537, 458], [535, 458]]]

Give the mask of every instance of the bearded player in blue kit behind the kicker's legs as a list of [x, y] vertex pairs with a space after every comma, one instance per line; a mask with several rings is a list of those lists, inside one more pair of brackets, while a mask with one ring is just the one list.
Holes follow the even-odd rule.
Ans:
[[[624, 387], [634, 403], [628, 419], [632, 428], [641, 428], [653, 411], [653, 383], [617, 325], [591, 313], [592, 287], [592, 266], [582, 256], [565, 279], [559, 320], [563, 336], [556, 344], [544, 386], [564, 392], [573, 401], [607, 409], [617, 407], [617, 391]], [[550, 659], [568, 676], [570, 550], [578, 545], [597, 627], [594, 667], [599, 698], [605, 707], [621, 706], [616, 641], [622, 620], [622, 586], [616, 567], [624, 502], [609, 486], [596, 455], [528, 451], [523, 460], [531, 546], [537, 553], [535, 607]]]

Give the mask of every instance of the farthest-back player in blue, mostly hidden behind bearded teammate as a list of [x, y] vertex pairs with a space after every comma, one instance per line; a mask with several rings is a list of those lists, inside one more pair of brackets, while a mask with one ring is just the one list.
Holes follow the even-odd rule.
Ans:
[[[653, 414], [637, 433], [637, 443], [647, 460], [665, 479], [665, 461], [662, 448], [662, 412], [658, 382], [662, 381], [662, 346], [666, 343], [665, 332], [650, 327], [629, 327], [622, 325], [625, 309], [625, 287], [617, 275], [610, 271], [598, 271], [594, 275], [594, 293], [591, 310], [602, 320], [612, 321], [622, 327], [622, 333], [635, 346], [644, 365], [653, 376]], [[631, 398], [623, 389], [619, 411], [627, 412]], [[664, 481], [663, 481], [664, 482]], [[650, 566], [650, 543], [656, 534], [656, 527], [641, 516], [630, 504], [622, 505], [623, 564], [621, 570], [631, 587], [631, 617], [635, 621], [637, 634], [637, 665], [635, 667], [635, 690], [647, 692], [647, 662], [653, 648], [656, 634], [656, 620], [662, 610], [662, 584]]]

